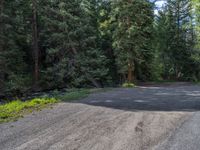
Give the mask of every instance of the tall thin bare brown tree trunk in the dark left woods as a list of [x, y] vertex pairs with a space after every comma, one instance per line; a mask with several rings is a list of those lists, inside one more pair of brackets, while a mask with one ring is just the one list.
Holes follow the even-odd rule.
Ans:
[[33, 54], [34, 54], [34, 84], [37, 85], [39, 80], [39, 46], [38, 46], [38, 28], [37, 28], [37, 4], [32, 0], [33, 11]]

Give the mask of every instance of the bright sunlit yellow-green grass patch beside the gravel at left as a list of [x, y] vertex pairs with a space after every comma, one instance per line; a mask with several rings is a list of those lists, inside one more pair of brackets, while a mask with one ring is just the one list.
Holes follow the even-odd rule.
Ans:
[[22, 102], [16, 100], [0, 106], [0, 123], [14, 121], [23, 117], [34, 110], [41, 110], [48, 104], [56, 103], [55, 98], [36, 98], [30, 101]]

